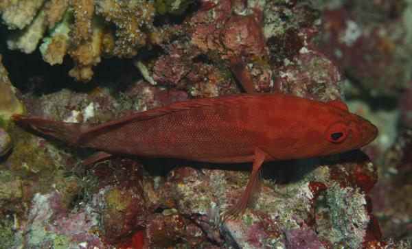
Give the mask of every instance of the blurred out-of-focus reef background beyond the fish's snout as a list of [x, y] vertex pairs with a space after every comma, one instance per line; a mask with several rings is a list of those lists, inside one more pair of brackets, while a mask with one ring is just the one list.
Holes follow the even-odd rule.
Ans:
[[[354, 82], [347, 88], [347, 96], [358, 99], [352, 110], [370, 115], [380, 130], [365, 151], [378, 167], [380, 180], [371, 198], [382, 233], [411, 239], [406, 208], [411, 203], [411, 1], [317, 4], [325, 19], [319, 47]], [[372, 97], [369, 104], [359, 100], [364, 95]]]

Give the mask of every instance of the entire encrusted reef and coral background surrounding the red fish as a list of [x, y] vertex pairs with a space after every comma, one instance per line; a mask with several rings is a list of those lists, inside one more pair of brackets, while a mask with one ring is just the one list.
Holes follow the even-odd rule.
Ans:
[[[3, 0], [0, 14], [0, 248], [412, 248], [412, 1]], [[255, 203], [222, 221], [251, 164], [83, 167], [93, 150], [10, 119], [97, 123], [244, 90], [345, 99], [380, 134], [264, 164]]]

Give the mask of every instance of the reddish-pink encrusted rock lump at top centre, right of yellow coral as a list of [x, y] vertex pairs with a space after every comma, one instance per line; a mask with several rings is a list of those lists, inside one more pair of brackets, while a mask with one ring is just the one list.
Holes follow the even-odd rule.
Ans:
[[204, 1], [187, 22], [193, 29], [192, 43], [203, 53], [218, 51], [222, 56], [263, 56], [262, 14], [253, 9], [247, 16], [231, 15], [231, 1]]

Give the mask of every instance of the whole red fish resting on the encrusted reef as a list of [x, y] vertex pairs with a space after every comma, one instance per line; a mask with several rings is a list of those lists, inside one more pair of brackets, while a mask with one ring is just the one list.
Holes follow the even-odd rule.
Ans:
[[98, 150], [85, 165], [112, 155], [252, 163], [246, 189], [222, 213], [243, 213], [262, 185], [262, 163], [355, 150], [378, 129], [339, 99], [321, 102], [281, 93], [251, 93], [174, 102], [106, 123], [65, 123], [14, 115], [22, 126]]

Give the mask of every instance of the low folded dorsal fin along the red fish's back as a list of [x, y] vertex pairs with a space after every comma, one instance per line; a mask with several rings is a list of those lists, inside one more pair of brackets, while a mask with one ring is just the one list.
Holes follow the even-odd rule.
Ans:
[[177, 112], [179, 110], [187, 110], [191, 108], [199, 108], [204, 106], [215, 106], [220, 104], [236, 104], [238, 102], [243, 102], [245, 99], [255, 98], [259, 95], [265, 95], [265, 93], [255, 94], [255, 95], [230, 95], [224, 97], [211, 97], [211, 98], [203, 98], [203, 99], [192, 99], [183, 102], [174, 102], [172, 104], [168, 104], [166, 106], [161, 106], [157, 108], [153, 108], [150, 110], [146, 110], [144, 112], [138, 112], [134, 115], [130, 115], [127, 117], [122, 117], [120, 119], [116, 119], [113, 121], [109, 121], [106, 123], [101, 124], [91, 124], [91, 128], [84, 130], [79, 137], [84, 137], [91, 132], [96, 130], [100, 130], [102, 128], [108, 128], [111, 126], [117, 126], [119, 124], [134, 122], [134, 121], [141, 121], [146, 119], [152, 119], [155, 117], [160, 117], [162, 115], [166, 115], [171, 112]]

